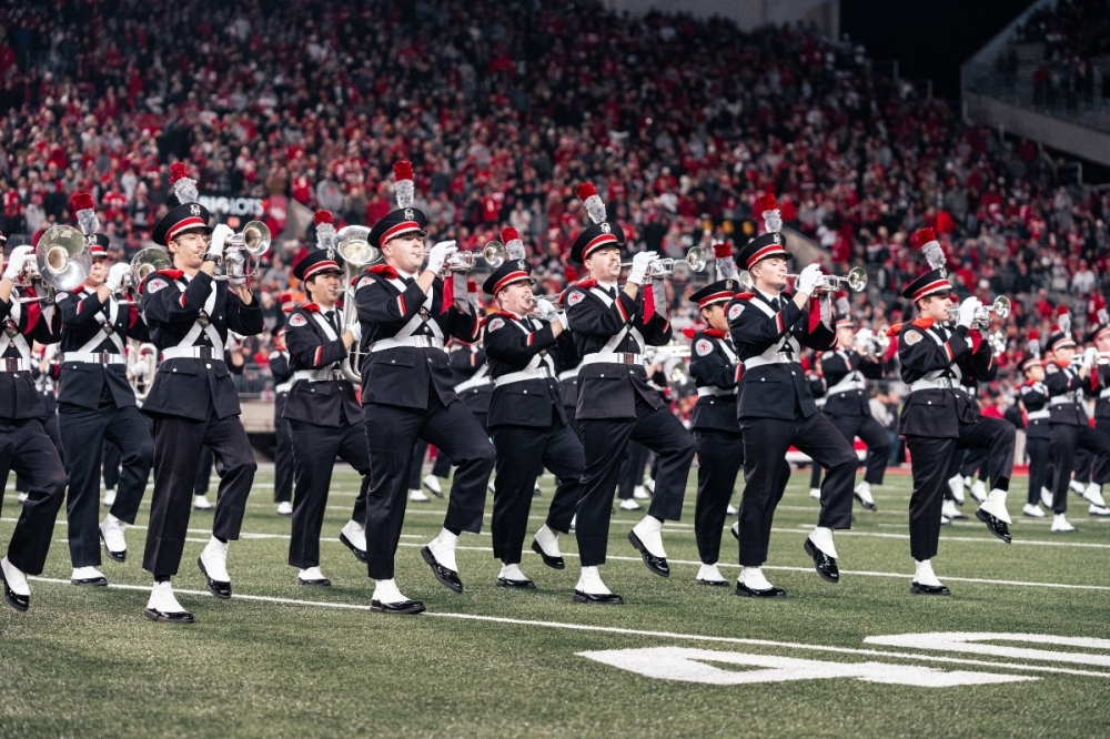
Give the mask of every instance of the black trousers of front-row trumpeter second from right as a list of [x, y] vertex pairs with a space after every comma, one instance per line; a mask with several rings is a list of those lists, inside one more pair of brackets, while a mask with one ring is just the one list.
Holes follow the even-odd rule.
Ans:
[[786, 490], [783, 460], [790, 446], [825, 468], [818, 526], [851, 528], [851, 488], [859, 458], [824, 413], [808, 418], [741, 418], [744, 496], [740, 498], [740, 566], [767, 561], [775, 508]]

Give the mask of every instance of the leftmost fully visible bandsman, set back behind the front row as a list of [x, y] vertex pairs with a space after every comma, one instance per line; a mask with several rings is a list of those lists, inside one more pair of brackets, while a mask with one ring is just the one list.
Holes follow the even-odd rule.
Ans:
[[[120, 303], [115, 297], [130, 279], [131, 267], [120, 262], [108, 269], [108, 236], [97, 233], [99, 221], [92, 196], [77, 193], [70, 203], [92, 254], [92, 269], [84, 283], [58, 294], [61, 348], [65, 354], [58, 414], [69, 477], [65, 510], [73, 560], [71, 581], [108, 585], [97, 569], [100, 540], [103, 539], [104, 551], [111, 559], [127, 559], [123, 532], [127, 525], [135, 523], [154, 457], [154, 443], [128, 381], [124, 348], [129, 337], [144, 342], [150, 336], [138, 306]], [[98, 508], [105, 438], [121, 449], [123, 472], [111, 513], [101, 524]]]

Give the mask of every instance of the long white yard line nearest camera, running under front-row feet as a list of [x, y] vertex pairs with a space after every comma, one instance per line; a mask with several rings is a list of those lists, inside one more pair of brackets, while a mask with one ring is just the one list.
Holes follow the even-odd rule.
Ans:
[[[48, 578], [48, 577], [29, 577], [29, 580], [37, 583], [50, 583], [54, 585], [69, 585], [69, 580]], [[140, 590], [142, 593], [150, 593], [150, 588], [142, 585], [115, 585], [109, 584], [109, 588], [117, 588], [119, 590]], [[174, 588], [174, 595], [193, 595], [193, 596], [208, 596], [213, 597], [206, 590], [179, 590]], [[357, 604], [347, 603], [326, 603], [321, 600], [301, 600], [297, 598], [279, 598], [275, 596], [254, 596], [254, 595], [243, 595], [235, 593], [232, 597], [233, 600], [255, 600], [259, 603], [276, 603], [287, 606], [307, 606], [315, 608], [337, 608], [346, 610], [365, 610], [370, 611], [370, 606], [362, 606]], [[594, 631], [598, 634], [619, 634], [622, 636], [639, 636], [639, 637], [653, 637], [663, 639], [679, 639], [683, 641], [715, 641], [718, 644], [736, 644], [756, 647], [779, 647], [785, 649], [804, 649], [807, 651], [830, 651], [841, 655], [859, 655], [865, 657], [884, 657], [884, 658], [895, 658], [895, 659], [914, 659], [926, 662], [945, 662], [949, 665], [975, 665], [977, 667], [989, 667], [993, 669], [1012, 669], [1012, 670], [1030, 670], [1035, 672], [1056, 672], [1061, 675], [1080, 675], [1083, 677], [1100, 677], [1110, 679], [1110, 672], [1100, 672], [1093, 670], [1076, 670], [1066, 667], [1046, 667], [1043, 665], [1016, 665], [1011, 662], [991, 662], [982, 659], [966, 659], [958, 657], [940, 657], [937, 655], [919, 655], [906, 651], [887, 651], [882, 649], [859, 649], [854, 647], [833, 647], [825, 645], [814, 645], [814, 644], [797, 644], [794, 641], [773, 641], [770, 639], [745, 639], [740, 637], [718, 637], [718, 636], [706, 636], [699, 634], [675, 634], [673, 631], [646, 631], [643, 629], [628, 629], [618, 626], [593, 626], [588, 624], [567, 624], [564, 621], [534, 621], [521, 618], [504, 618], [500, 616], [480, 616], [476, 614], [458, 614], [458, 613], [432, 613], [425, 611], [423, 616], [428, 616], [432, 618], [458, 618], [463, 620], [473, 621], [486, 621], [490, 624], [506, 624], [509, 626], [533, 626], [541, 628], [551, 629], [569, 629], [575, 631]]]

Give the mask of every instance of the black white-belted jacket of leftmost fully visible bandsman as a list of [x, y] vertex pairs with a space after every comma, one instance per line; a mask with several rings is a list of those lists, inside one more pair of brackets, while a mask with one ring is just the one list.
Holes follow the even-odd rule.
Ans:
[[[107, 324], [124, 345], [128, 338], [150, 341], [147, 324], [139, 317], [139, 306], [120, 305], [114, 297], [101, 303], [95, 290], [81, 286], [70, 293], [58, 293], [58, 308], [62, 314], [63, 353], [81, 351], [99, 336], [101, 341], [84, 351], [120, 354], [120, 347], [103, 331]], [[103, 365], [63, 360], [60, 385], [59, 403], [98, 408], [101, 392], [107, 385], [115, 407], [135, 405], [135, 392], [128, 382], [127, 364]]]

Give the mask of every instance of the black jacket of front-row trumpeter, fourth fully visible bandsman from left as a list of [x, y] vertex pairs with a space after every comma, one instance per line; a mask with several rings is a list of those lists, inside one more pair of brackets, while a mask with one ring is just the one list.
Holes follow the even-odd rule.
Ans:
[[[427, 409], [428, 383], [444, 405], [458, 399], [454, 377], [442, 348], [401, 346], [371, 352], [375, 342], [393, 338], [415, 320], [414, 336], [435, 336], [445, 342], [454, 336], [475, 342], [482, 328], [476, 311], [466, 313], [451, 305], [443, 306], [444, 282], [432, 284], [431, 306], [424, 307], [427, 295], [415, 281], [405, 286], [396, 271], [386, 264], [375, 264], [356, 277], [354, 294], [362, 323], [362, 347], [367, 352], [362, 361], [362, 402]], [[433, 325], [435, 326], [433, 328]]]

